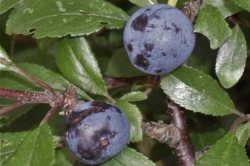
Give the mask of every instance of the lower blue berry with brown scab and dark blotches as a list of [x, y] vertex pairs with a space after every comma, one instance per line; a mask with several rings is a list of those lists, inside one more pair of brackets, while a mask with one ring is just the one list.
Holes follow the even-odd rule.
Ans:
[[126, 146], [129, 136], [126, 115], [105, 102], [83, 103], [66, 120], [66, 145], [86, 164], [99, 164], [114, 157]]

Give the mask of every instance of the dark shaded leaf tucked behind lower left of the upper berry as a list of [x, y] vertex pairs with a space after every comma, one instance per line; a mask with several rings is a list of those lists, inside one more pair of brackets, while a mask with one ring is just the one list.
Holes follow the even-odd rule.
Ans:
[[145, 75], [131, 64], [124, 47], [118, 49], [113, 54], [105, 74], [112, 77], [136, 77]]

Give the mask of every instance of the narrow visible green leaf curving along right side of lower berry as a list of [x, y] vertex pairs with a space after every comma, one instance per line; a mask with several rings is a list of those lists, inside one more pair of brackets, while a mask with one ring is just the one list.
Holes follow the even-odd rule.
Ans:
[[130, 122], [130, 142], [142, 140], [141, 121], [142, 115], [139, 109], [126, 101], [116, 101], [115, 105], [119, 107], [128, 117]]

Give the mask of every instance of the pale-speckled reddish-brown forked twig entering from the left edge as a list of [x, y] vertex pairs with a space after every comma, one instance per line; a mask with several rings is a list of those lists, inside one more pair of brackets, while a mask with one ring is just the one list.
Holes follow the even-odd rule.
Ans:
[[21, 107], [25, 104], [32, 103], [48, 103], [52, 107], [46, 114], [42, 123], [47, 122], [50, 117], [56, 112], [58, 108], [64, 109], [64, 115], [69, 114], [75, 106], [78, 106], [76, 96], [76, 89], [73, 85], [68, 85], [68, 91], [65, 93], [54, 92], [53, 94], [45, 90], [45, 92], [26, 92], [19, 90], [10, 90], [0, 88], [0, 98], [8, 98], [18, 100], [19, 102], [10, 106], [0, 109], [0, 115], [9, 112], [15, 108]]

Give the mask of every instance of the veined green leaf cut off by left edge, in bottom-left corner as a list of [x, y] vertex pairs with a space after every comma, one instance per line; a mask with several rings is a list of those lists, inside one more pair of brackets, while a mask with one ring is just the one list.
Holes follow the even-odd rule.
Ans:
[[5, 165], [5, 163], [12, 158], [15, 154], [16, 149], [20, 143], [29, 134], [29, 131], [25, 132], [15, 132], [15, 133], [1, 133], [0, 137], [0, 165]]

